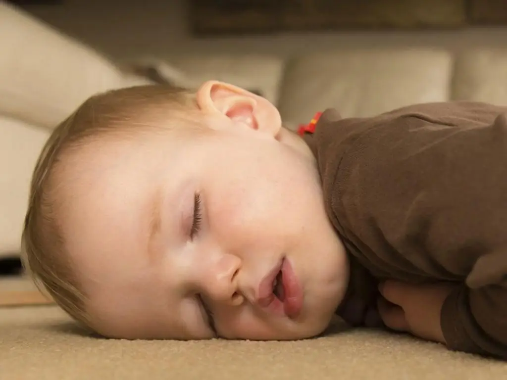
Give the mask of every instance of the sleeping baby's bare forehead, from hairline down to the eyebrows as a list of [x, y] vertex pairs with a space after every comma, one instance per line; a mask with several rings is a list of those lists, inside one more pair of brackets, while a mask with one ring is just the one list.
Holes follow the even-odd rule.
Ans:
[[[171, 182], [177, 182], [167, 165], [177, 162], [171, 159], [177, 149], [160, 142], [95, 142], [69, 157], [61, 176], [67, 251], [90, 298], [92, 320], [104, 335], [195, 335], [181, 318], [179, 300], [162, 286], [149, 255], [150, 222], [164, 178], [161, 170], [170, 171]], [[172, 277], [169, 269], [166, 272]]]

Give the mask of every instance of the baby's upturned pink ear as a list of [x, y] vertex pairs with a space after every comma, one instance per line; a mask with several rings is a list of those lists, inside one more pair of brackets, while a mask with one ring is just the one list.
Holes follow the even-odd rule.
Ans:
[[210, 115], [225, 116], [233, 123], [276, 137], [281, 128], [278, 109], [262, 96], [229, 83], [209, 81], [197, 91], [199, 108]]

